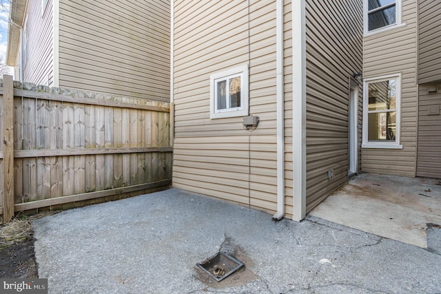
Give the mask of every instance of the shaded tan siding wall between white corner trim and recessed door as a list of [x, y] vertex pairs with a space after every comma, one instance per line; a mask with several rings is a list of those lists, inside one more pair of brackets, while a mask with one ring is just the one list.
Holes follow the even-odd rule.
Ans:
[[307, 1], [306, 38], [308, 212], [347, 181], [349, 77], [362, 71], [361, 1]]

